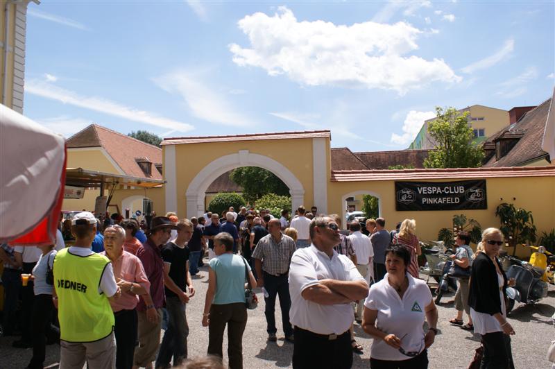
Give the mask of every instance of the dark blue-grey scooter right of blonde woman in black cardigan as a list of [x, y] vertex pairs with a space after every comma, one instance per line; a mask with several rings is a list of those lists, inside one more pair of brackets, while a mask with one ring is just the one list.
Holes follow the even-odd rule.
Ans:
[[509, 255], [504, 256], [504, 258], [510, 259], [513, 264], [506, 271], [507, 278], [515, 279], [515, 286], [509, 286], [506, 289], [508, 298], [507, 314], [515, 306], [515, 301], [524, 304], [535, 304], [547, 296], [547, 283], [542, 280], [545, 271], [542, 268], [532, 266], [527, 261], [520, 261]]

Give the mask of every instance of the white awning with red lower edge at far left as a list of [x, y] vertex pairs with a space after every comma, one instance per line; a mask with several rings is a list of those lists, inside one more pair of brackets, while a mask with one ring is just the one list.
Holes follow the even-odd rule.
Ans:
[[0, 104], [0, 242], [53, 243], [65, 164], [64, 137]]

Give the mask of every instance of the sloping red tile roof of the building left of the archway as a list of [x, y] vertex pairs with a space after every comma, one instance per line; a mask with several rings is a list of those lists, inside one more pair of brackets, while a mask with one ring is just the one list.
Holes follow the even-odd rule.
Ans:
[[[67, 139], [67, 148], [83, 147], [104, 148], [126, 175], [154, 180], [162, 179], [162, 174], [155, 167], [155, 164], [162, 163], [162, 149], [159, 147], [96, 124], [91, 124]], [[136, 157], [144, 157], [152, 162], [150, 177], [147, 177], [137, 164]]]

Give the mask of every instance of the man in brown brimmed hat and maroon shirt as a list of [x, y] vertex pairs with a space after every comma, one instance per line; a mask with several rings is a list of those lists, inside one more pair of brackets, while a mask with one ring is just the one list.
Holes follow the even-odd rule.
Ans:
[[166, 216], [156, 216], [151, 221], [151, 229], [146, 232], [148, 239], [137, 250], [137, 257], [143, 263], [148, 282], [151, 282], [150, 293], [153, 303], [147, 305], [139, 298], [137, 304], [139, 347], [135, 350], [133, 368], [152, 368], [152, 362], [156, 359], [162, 329], [162, 307], [166, 299], [161, 249], [168, 243], [171, 230], [177, 229], [178, 227]]

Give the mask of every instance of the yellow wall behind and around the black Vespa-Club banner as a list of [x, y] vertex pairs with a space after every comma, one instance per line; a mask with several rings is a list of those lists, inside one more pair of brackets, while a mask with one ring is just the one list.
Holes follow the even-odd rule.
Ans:
[[[427, 182], [450, 182], [450, 180], [427, 180]], [[395, 210], [395, 181], [332, 182], [328, 187], [328, 209], [330, 213], [342, 214], [341, 198], [354, 191], [370, 191], [379, 196], [386, 228], [391, 230], [395, 223], [405, 218], [416, 220], [416, 233], [422, 240], [436, 240], [438, 230], [452, 228], [454, 215], [465, 214], [478, 221], [482, 229], [499, 227], [495, 208], [500, 203], [513, 203], [532, 212], [534, 224], [541, 232], [555, 227], [555, 177], [489, 178], [486, 179], [488, 209], [445, 210], [435, 212], [398, 212]], [[513, 198], [515, 200], [513, 200]], [[518, 254], [529, 256], [529, 250], [519, 247]]]

